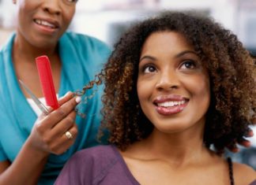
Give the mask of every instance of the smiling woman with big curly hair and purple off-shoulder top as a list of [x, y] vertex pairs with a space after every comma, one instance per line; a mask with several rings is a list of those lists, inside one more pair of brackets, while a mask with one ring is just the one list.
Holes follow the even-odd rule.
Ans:
[[252, 168], [222, 157], [255, 124], [255, 74], [242, 43], [209, 18], [142, 21], [100, 74], [111, 145], [77, 152], [55, 184], [256, 183]]

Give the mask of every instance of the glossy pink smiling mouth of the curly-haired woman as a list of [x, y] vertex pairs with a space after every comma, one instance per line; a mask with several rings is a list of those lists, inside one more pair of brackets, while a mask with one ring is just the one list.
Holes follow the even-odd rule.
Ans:
[[153, 104], [156, 106], [156, 112], [169, 116], [176, 113], [181, 113], [183, 109], [186, 108], [189, 99], [177, 94], [171, 94], [168, 96], [159, 96], [154, 101]]

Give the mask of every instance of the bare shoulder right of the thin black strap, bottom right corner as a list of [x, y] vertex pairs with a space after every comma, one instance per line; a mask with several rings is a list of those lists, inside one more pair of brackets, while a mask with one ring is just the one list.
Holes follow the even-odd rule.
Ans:
[[250, 184], [256, 179], [253, 168], [236, 162], [233, 162], [233, 174], [237, 184]]

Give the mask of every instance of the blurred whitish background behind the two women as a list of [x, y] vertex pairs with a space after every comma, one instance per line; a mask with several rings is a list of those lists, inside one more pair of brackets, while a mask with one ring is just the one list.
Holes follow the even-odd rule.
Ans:
[[[113, 46], [130, 24], [164, 9], [194, 11], [214, 17], [238, 35], [256, 56], [256, 0], [79, 0], [69, 29], [95, 36]], [[12, 1], [0, 0], [0, 46], [14, 30], [15, 22]], [[256, 169], [256, 128], [252, 129], [253, 146], [249, 150], [241, 148], [233, 157]]]

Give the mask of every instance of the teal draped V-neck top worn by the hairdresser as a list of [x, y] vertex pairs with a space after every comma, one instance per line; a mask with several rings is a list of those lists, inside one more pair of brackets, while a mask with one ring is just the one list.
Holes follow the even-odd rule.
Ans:
[[[12, 50], [15, 34], [0, 50], [0, 161], [13, 161], [28, 138], [36, 113], [28, 104], [19, 87], [13, 69]], [[67, 32], [58, 43], [62, 62], [62, 72], [58, 95], [67, 91], [77, 91], [93, 80], [103, 68], [111, 50], [100, 40]], [[92, 94], [88, 92], [87, 95]], [[86, 117], [77, 116], [78, 135], [76, 142], [65, 154], [51, 154], [47, 161], [39, 184], [53, 184], [67, 159], [88, 146], [95, 146], [96, 133], [100, 125], [102, 87], [86, 104], [80, 105]], [[89, 170], [89, 169], [88, 169]]]

